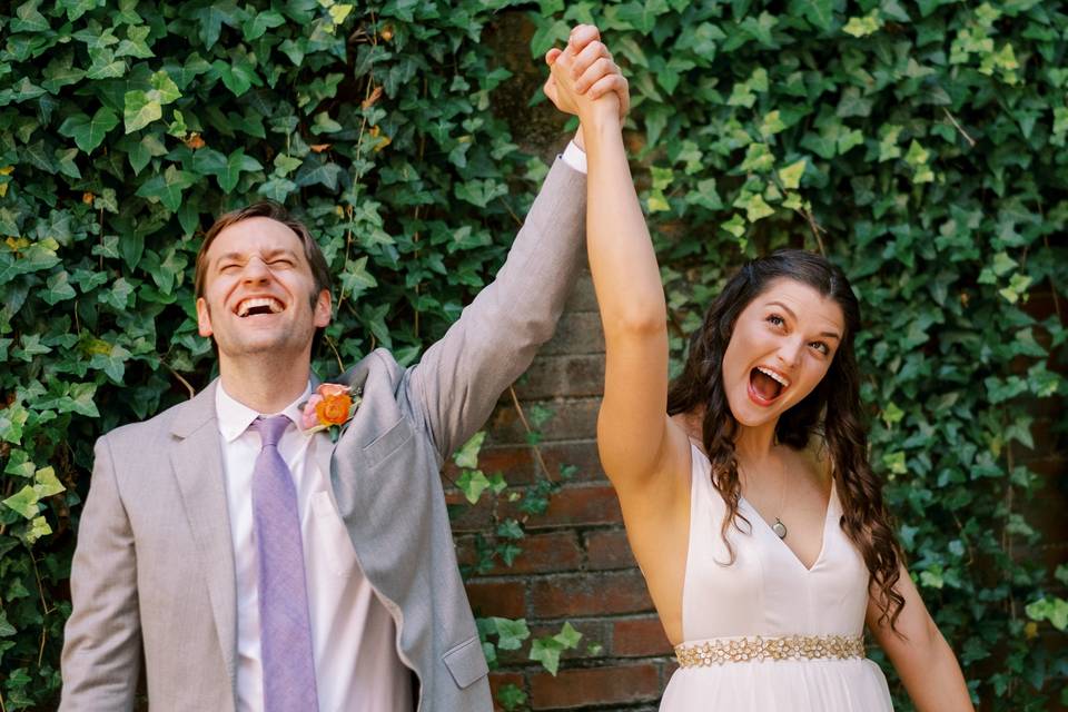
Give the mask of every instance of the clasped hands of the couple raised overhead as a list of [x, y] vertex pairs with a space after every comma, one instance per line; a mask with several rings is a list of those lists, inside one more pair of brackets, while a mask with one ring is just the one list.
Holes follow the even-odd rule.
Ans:
[[[577, 115], [586, 122], [596, 111], [611, 110], [622, 120], [630, 110], [627, 81], [594, 26], [578, 24], [572, 29], [567, 46], [548, 50], [545, 63], [551, 70], [545, 96], [561, 111]], [[581, 131], [576, 140], [582, 147]]]

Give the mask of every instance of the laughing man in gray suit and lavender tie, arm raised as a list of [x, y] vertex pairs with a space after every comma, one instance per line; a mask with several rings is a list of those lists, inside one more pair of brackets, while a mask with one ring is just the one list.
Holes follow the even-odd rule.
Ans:
[[[573, 37], [587, 86], [625, 105], [596, 29]], [[556, 100], [552, 81], [546, 92]], [[264, 205], [212, 226], [196, 294], [219, 378], [97, 443], [61, 710], [130, 710], [142, 652], [154, 711], [492, 709], [438, 471], [572, 287], [585, 187], [581, 150], [567, 154], [496, 280], [418, 365], [378, 349], [328, 392], [362, 398], [350, 419], [347, 404], [300, 409], [332, 309], [310, 235]], [[343, 423], [336, 445], [307, 429], [320, 417]]]

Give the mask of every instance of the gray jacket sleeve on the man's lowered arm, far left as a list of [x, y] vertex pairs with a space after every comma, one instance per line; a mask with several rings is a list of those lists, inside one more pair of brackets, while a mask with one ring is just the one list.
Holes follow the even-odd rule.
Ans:
[[97, 441], [70, 594], [60, 712], [132, 710], [141, 666], [137, 557], [107, 437]]

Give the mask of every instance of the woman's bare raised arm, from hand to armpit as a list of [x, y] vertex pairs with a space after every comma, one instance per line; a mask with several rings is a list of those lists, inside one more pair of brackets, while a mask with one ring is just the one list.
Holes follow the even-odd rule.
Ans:
[[[587, 43], [577, 55], [572, 44], [547, 59], [556, 90], [574, 101], [582, 121], [589, 168], [586, 240], [606, 350], [597, 445], [625, 505], [630, 494], [642, 491], [644, 496], [657, 473], [673, 468], [680, 447], [672, 441], [685, 443], [685, 435], [666, 416], [666, 304], [626, 160], [619, 97], [599, 95], [596, 86], [584, 83], [589, 70], [611, 62], [611, 55], [600, 42]], [[660, 486], [656, 492], [668, 494]]]

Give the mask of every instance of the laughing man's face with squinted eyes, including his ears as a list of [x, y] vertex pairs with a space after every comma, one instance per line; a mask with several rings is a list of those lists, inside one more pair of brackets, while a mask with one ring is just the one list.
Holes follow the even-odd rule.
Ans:
[[312, 296], [315, 279], [296, 233], [254, 217], [222, 229], [207, 255], [204, 296], [197, 299], [201, 336], [214, 336], [219, 358], [310, 352], [317, 327], [330, 322], [330, 294]]

